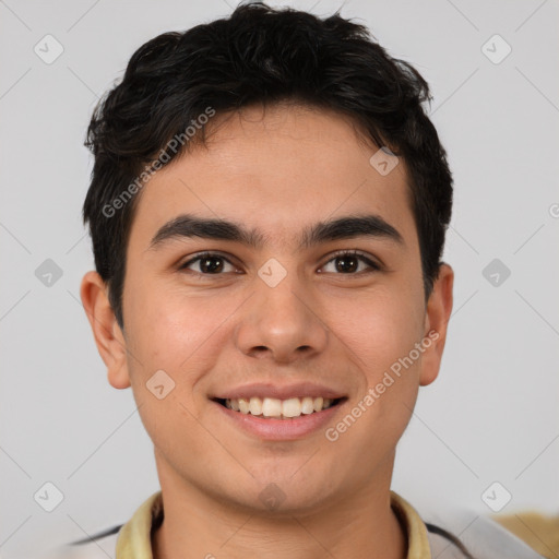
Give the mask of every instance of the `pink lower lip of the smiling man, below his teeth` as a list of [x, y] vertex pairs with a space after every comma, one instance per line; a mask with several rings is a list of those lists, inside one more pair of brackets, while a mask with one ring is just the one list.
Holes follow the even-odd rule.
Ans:
[[214, 404], [229, 417], [235, 424], [249, 432], [250, 435], [260, 437], [261, 439], [275, 441], [289, 441], [307, 437], [308, 435], [324, 429], [326, 424], [332, 420], [334, 414], [337, 413], [343, 402], [335, 406], [321, 412], [313, 412], [309, 415], [300, 415], [292, 419], [264, 419], [263, 417], [251, 414], [241, 414], [223, 406], [218, 402]]

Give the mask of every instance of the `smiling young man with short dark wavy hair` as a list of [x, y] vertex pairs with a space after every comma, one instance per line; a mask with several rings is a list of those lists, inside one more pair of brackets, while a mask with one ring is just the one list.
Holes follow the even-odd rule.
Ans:
[[76, 557], [537, 557], [390, 488], [452, 309], [429, 98], [337, 14], [242, 5], [133, 55], [88, 130], [81, 296], [162, 491]]

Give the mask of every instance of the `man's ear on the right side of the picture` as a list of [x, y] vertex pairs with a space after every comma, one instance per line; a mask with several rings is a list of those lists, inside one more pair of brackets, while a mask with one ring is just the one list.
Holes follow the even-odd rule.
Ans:
[[[452, 312], [452, 287], [454, 272], [449, 264], [440, 264], [439, 275], [427, 301], [424, 340], [431, 344], [421, 358], [419, 385], [430, 384], [439, 374], [442, 350], [447, 341], [447, 328]], [[426, 345], [426, 344], [424, 344]]]

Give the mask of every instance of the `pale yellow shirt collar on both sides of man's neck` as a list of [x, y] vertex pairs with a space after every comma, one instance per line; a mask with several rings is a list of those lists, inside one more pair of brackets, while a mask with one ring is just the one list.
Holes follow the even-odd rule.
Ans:
[[[417, 511], [394, 491], [390, 491], [390, 506], [407, 534], [406, 559], [431, 559], [427, 527]], [[151, 535], [162, 522], [163, 497], [157, 491], [120, 530], [116, 559], [153, 559]]]

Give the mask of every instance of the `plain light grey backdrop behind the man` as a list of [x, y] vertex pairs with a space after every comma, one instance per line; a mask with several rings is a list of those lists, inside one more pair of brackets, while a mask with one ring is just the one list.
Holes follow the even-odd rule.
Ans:
[[[138, 47], [235, 3], [0, 1], [3, 558], [121, 524], [159, 488], [131, 390], [108, 384], [79, 298], [93, 267], [83, 141], [98, 97]], [[454, 174], [444, 254], [456, 273], [454, 313], [441, 373], [420, 389], [400, 442], [393, 489], [420, 511], [451, 503], [475, 518], [492, 512], [483, 496], [497, 481], [493, 500], [510, 493], [502, 513], [557, 512], [559, 2], [283, 5], [319, 15], [342, 7], [411, 61], [432, 88]], [[63, 496], [52, 512], [34, 497], [46, 483]]]

